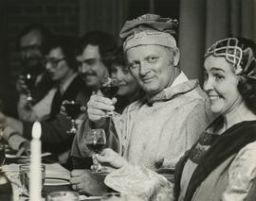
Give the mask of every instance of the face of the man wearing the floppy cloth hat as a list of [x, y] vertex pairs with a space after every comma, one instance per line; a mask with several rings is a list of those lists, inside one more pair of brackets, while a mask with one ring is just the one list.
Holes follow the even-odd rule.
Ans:
[[174, 82], [174, 56], [159, 45], [141, 45], [126, 52], [131, 74], [148, 95], [161, 92]]

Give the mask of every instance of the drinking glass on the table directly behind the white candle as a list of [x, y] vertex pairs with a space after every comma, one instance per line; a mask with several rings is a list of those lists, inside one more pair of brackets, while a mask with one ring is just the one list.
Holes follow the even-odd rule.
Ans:
[[[30, 164], [23, 164], [19, 167], [19, 176], [22, 186], [21, 194], [27, 195], [29, 194], [29, 172], [30, 172]], [[41, 173], [42, 173], [42, 190], [45, 183], [46, 178], [46, 165], [41, 165]]]

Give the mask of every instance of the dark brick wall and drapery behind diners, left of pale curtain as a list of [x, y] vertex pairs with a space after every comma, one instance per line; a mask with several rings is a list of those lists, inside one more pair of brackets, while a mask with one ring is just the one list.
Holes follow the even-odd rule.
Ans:
[[178, 19], [179, 0], [1, 0], [0, 99], [5, 112], [16, 116], [16, 38], [25, 25], [42, 23], [54, 33], [74, 36], [100, 29], [118, 39], [125, 20], [149, 12]]

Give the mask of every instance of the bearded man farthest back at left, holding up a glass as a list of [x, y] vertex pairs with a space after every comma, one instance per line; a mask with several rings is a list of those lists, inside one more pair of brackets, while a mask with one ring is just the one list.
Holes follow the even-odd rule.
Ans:
[[[44, 25], [28, 25], [18, 37], [18, 48], [22, 74], [16, 83], [19, 92], [18, 116], [21, 120], [41, 120], [47, 115], [38, 103], [52, 88], [52, 80], [44, 66], [44, 48], [51, 33]], [[31, 86], [27, 86], [25, 76], [30, 76]], [[28, 99], [28, 93], [32, 99]], [[48, 100], [50, 102], [50, 100]]]

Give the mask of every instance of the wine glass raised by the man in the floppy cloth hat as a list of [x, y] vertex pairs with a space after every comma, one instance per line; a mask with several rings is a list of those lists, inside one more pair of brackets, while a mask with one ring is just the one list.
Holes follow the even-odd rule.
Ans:
[[[100, 81], [100, 90], [107, 98], [113, 98], [119, 92], [119, 79], [117, 77], [106, 77]], [[113, 111], [106, 111], [105, 117], [112, 117]]]

